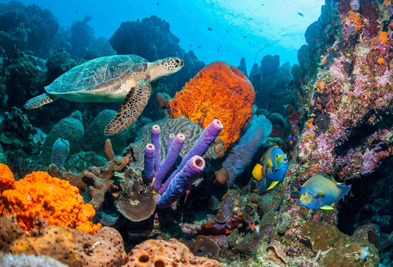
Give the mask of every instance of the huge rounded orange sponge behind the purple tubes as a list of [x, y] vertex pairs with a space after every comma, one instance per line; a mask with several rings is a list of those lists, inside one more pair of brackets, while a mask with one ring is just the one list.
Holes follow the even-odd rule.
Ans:
[[172, 118], [183, 115], [202, 128], [219, 119], [224, 125], [219, 137], [227, 149], [250, 122], [254, 100], [254, 88], [247, 77], [235, 67], [216, 61], [176, 93], [169, 101], [169, 112]]

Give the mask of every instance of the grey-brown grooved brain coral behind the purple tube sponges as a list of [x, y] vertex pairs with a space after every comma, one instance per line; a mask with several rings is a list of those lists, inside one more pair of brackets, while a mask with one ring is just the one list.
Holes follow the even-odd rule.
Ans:
[[[134, 169], [143, 170], [144, 168], [144, 149], [147, 144], [151, 142], [151, 128], [154, 124], [157, 124], [161, 128], [161, 160], [164, 160], [167, 155], [167, 142], [169, 134], [184, 134], [186, 140], [184, 141], [183, 147], [180, 150], [180, 157], [183, 158], [194, 145], [199, 135], [202, 134], [203, 129], [196, 123], [186, 118], [179, 119], [162, 119], [154, 123], [146, 124], [140, 130], [140, 134], [134, 143], [130, 145], [133, 150], [133, 157], [135, 161], [131, 163]], [[217, 151], [212, 144], [206, 151], [203, 157], [209, 159], [217, 159]]]

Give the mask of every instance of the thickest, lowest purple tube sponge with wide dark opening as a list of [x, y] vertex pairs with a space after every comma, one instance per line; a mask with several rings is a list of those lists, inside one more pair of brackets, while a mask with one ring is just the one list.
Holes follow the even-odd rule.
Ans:
[[[221, 123], [220, 123], [221, 125]], [[221, 131], [221, 130], [220, 130]], [[205, 160], [200, 156], [189, 159], [171, 180], [168, 189], [157, 202], [157, 208], [168, 208], [190, 188], [205, 168]]]

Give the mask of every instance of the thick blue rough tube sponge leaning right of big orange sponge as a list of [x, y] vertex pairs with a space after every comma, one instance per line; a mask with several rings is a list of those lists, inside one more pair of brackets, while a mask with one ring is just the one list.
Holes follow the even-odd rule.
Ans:
[[236, 177], [251, 163], [256, 150], [266, 142], [270, 133], [272, 133], [272, 123], [264, 115], [254, 115], [246, 127], [246, 132], [223, 162], [223, 167], [228, 170], [229, 185], [233, 185]]

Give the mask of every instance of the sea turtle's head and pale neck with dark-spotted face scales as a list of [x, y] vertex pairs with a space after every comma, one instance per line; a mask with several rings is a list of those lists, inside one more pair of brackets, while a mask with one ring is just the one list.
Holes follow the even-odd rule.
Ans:
[[168, 57], [149, 63], [150, 80], [169, 76], [181, 70], [183, 66], [183, 59], [178, 57]]

